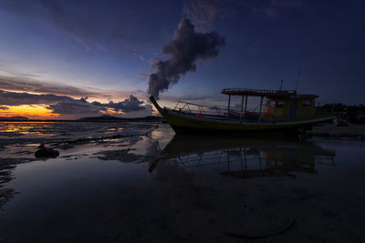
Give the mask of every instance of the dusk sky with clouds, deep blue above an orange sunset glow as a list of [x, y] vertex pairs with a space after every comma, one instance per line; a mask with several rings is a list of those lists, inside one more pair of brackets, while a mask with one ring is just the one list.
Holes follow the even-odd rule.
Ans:
[[363, 104], [365, 2], [0, 0], [0, 116], [155, 114], [226, 87]]

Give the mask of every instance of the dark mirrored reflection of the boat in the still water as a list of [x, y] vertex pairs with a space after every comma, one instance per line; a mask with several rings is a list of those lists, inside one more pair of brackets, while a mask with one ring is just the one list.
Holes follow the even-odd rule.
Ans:
[[[334, 165], [336, 152], [298, 139], [255, 140], [176, 135], [161, 158], [183, 167], [217, 167], [224, 177], [295, 177], [317, 173], [316, 164]], [[150, 172], [155, 167], [152, 164]]]

